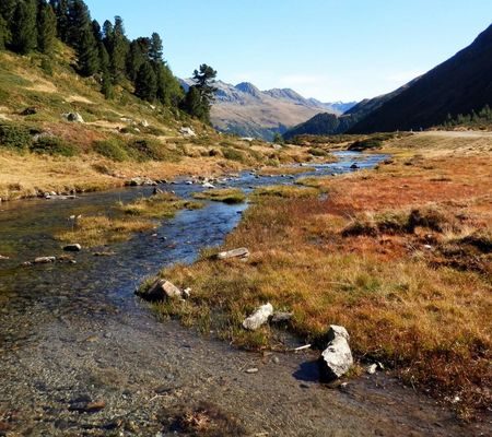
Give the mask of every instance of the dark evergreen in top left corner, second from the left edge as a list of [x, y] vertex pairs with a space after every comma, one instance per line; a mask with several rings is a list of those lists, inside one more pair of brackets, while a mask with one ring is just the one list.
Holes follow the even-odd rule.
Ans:
[[36, 0], [17, 2], [12, 28], [12, 48], [17, 54], [26, 55], [36, 48]]

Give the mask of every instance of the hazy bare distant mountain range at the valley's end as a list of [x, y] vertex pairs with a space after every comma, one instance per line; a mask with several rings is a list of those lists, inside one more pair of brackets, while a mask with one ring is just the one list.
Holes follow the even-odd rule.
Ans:
[[[181, 80], [187, 90], [191, 80]], [[215, 103], [211, 119], [215, 129], [239, 137], [272, 140], [276, 133], [284, 133], [293, 126], [305, 121], [319, 113], [341, 115], [352, 103], [321, 103], [315, 98], [305, 98], [290, 88], [260, 91], [251, 83], [237, 85], [218, 81]]]

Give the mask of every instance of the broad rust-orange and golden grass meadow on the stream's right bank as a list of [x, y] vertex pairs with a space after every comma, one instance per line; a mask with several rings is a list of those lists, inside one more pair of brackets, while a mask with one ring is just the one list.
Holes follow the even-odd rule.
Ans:
[[487, 408], [492, 157], [429, 145], [409, 143], [374, 173], [323, 179], [327, 200], [269, 197], [254, 205], [224, 245], [248, 247], [249, 261], [204, 253], [165, 270], [194, 293], [160, 310], [265, 347], [270, 329], [244, 332], [241, 321], [271, 302], [292, 310], [292, 330], [320, 346], [329, 324], [345, 326], [359, 359], [386, 363], [413, 387], [453, 400], [464, 417]]

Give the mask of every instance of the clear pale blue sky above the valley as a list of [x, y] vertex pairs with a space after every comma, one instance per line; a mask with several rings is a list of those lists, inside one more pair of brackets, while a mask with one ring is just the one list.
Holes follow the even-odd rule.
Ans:
[[292, 87], [325, 102], [397, 88], [469, 45], [492, 0], [86, 0], [131, 38], [159, 32], [174, 73]]

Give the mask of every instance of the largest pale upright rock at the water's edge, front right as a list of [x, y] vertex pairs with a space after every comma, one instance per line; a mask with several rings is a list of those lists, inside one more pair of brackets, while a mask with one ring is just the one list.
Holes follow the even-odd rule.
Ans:
[[319, 358], [321, 379], [332, 381], [347, 374], [353, 365], [352, 352], [349, 346], [349, 333], [343, 327], [331, 326], [328, 338], [332, 340]]

